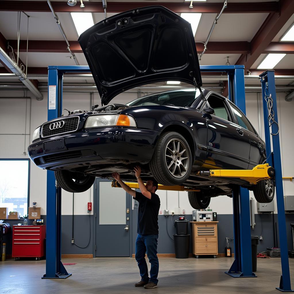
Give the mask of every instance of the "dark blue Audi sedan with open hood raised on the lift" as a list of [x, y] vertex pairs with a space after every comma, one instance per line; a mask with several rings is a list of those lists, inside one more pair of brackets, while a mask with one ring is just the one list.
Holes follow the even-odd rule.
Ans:
[[[265, 143], [240, 109], [201, 88], [191, 25], [162, 6], [111, 16], [81, 34], [102, 106], [73, 111], [43, 123], [28, 148], [40, 168], [55, 172], [69, 192], [83, 192], [99, 178], [120, 173], [124, 181], [153, 176], [163, 185], [183, 185], [191, 206], [206, 208], [211, 197], [232, 195], [238, 184], [270, 202], [273, 180], [251, 186], [235, 178], [207, 178], [209, 169], [251, 169], [265, 163]], [[176, 80], [194, 88], [109, 104], [139, 85]]]

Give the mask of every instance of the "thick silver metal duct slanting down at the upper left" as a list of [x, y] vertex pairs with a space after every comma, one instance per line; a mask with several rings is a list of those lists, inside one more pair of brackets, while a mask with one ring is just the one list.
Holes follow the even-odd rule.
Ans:
[[37, 100], [43, 100], [43, 94], [27, 78], [26, 74], [21, 71], [19, 66], [6, 54], [0, 47], [0, 59], [15, 74], [19, 80], [36, 96]]

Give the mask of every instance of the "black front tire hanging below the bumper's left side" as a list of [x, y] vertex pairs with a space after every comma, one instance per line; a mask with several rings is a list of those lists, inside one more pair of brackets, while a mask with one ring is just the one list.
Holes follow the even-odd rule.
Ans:
[[72, 193], [87, 191], [95, 181], [94, 176], [72, 171], [54, 171], [54, 175], [61, 188]]

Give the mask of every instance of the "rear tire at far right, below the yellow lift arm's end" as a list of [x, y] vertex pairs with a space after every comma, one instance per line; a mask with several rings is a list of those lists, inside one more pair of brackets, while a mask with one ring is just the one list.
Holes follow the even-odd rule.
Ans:
[[274, 179], [268, 179], [258, 182], [253, 186], [254, 197], [259, 203], [270, 203], [275, 196]]

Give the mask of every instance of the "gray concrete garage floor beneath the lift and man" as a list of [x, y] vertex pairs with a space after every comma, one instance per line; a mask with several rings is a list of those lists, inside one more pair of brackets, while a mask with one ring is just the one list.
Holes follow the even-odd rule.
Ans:
[[[134, 286], [140, 275], [134, 258], [63, 259], [72, 276], [45, 279], [45, 260], [6, 260], [0, 262], [0, 293], [280, 293], [280, 258], [258, 259], [257, 278], [231, 278], [224, 271], [231, 258], [160, 258], [158, 288]], [[289, 258], [292, 289], [294, 259]], [[148, 268], [149, 264], [148, 264]]]

